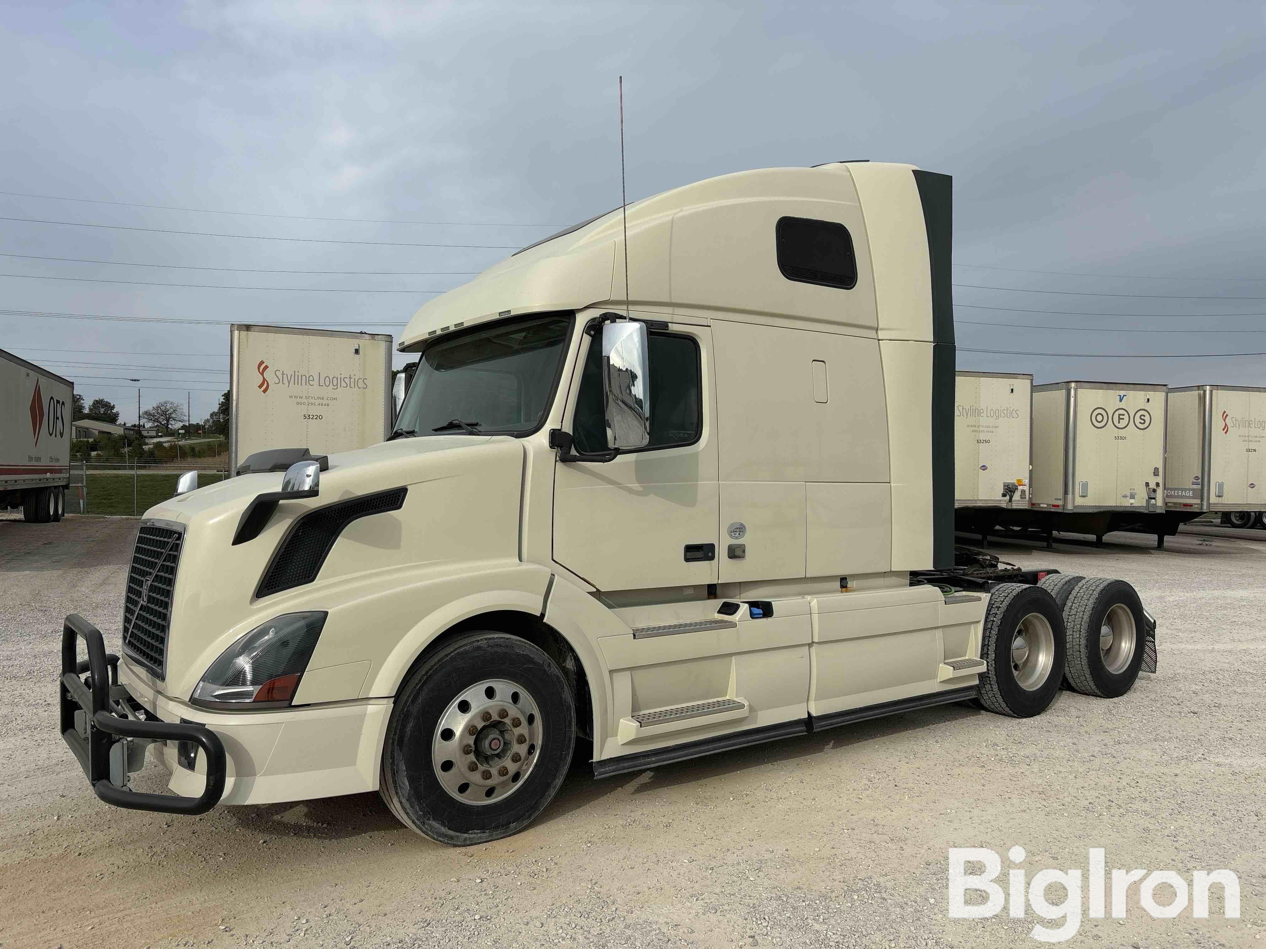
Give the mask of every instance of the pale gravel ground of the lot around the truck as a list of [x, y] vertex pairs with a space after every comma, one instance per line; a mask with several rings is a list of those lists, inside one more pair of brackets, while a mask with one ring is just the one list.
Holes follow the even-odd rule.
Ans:
[[77, 611], [116, 642], [134, 529], [0, 516], [5, 948], [1036, 944], [1032, 911], [947, 916], [947, 848], [1005, 871], [1014, 844], [1031, 873], [1104, 847], [1109, 868], [1239, 877], [1239, 920], [1217, 895], [1210, 920], [1152, 919], [1136, 895], [1070, 945], [1266, 945], [1261, 540], [991, 545], [1138, 587], [1160, 673], [1123, 698], [1061, 692], [1024, 721], [944, 706], [601, 782], [580, 762], [536, 825], [456, 850], [376, 795], [192, 819], [97, 802], [57, 738], [58, 634]]

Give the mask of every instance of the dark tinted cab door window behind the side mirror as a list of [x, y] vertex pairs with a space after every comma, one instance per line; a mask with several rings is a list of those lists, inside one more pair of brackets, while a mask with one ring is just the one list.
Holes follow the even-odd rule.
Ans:
[[[703, 431], [699, 344], [690, 337], [652, 333], [651, 442], [642, 450], [689, 445]], [[603, 419], [603, 347], [595, 337], [580, 376], [572, 437], [577, 452], [606, 450]]]

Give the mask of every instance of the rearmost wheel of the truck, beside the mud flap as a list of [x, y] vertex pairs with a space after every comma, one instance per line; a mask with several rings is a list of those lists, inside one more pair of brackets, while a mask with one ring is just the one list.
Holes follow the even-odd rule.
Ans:
[[1065, 620], [1069, 685], [1099, 698], [1117, 698], [1133, 688], [1147, 639], [1134, 587], [1124, 580], [1093, 577], [1072, 591]]

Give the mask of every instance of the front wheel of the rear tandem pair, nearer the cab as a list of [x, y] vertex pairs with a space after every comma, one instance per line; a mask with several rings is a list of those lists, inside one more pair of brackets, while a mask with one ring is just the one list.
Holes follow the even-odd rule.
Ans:
[[999, 583], [990, 591], [980, 647], [980, 704], [1028, 719], [1055, 701], [1063, 679], [1063, 612], [1050, 591]]

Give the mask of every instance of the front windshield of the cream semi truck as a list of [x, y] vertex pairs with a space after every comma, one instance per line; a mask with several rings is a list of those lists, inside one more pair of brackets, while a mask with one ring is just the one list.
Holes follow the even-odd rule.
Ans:
[[422, 353], [396, 431], [517, 434], [541, 428], [558, 382], [570, 314], [476, 326]]

